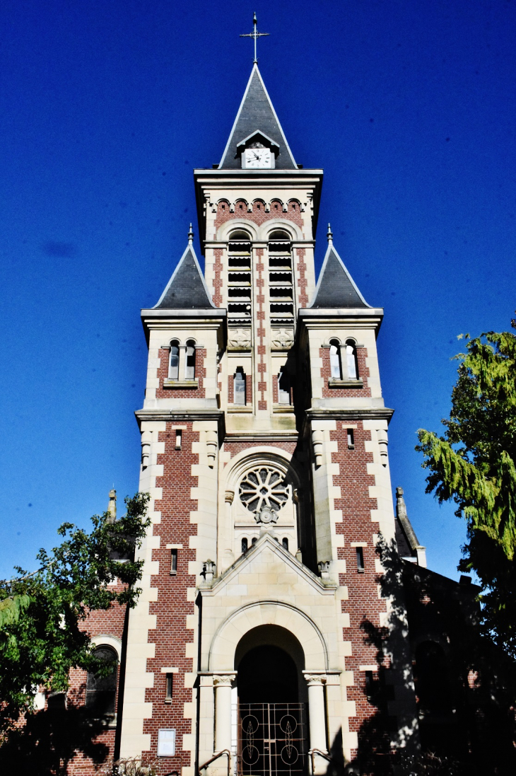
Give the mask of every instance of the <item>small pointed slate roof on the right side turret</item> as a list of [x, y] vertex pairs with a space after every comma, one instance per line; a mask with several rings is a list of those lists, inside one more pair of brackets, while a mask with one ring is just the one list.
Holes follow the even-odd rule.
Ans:
[[358, 291], [352, 276], [345, 268], [332, 243], [328, 244], [313, 300], [309, 307], [316, 310], [320, 308], [371, 307]]

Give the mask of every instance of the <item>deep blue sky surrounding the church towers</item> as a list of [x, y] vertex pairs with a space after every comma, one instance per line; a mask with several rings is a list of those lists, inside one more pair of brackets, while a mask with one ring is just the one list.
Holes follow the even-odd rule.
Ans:
[[448, 414], [457, 334], [507, 329], [516, 307], [512, 0], [3, 5], [2, 574], [113, 484], [137, 490], [139, 310], [195, 225], [192, 168], [220, 160], [254, 10], [294, 157], [325, 171], [317, 265], [331, 221], [385, 308], [393, 487], [431, 568], [458, 577], [464, 525], [424, 494], [414, 445]]

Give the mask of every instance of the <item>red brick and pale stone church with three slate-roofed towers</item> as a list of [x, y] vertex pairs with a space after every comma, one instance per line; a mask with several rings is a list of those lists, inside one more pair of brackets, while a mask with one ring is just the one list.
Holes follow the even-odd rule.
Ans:
[[452, 637], [425, 612], [474, 618], [476, 587], [429, 571], [401, 488], [393, 507], [383, 309], [330, 227], [316, 279], [322, 181], [255, 61], [220, 164], [194, 170], [205, 270], [190, 227], [141, 311], [142, 593], [88, 624], [116, 681], [74, 681], [93, 708], [112, 693], [111, 755], [161, 776], [383, 774], [460, 739]]

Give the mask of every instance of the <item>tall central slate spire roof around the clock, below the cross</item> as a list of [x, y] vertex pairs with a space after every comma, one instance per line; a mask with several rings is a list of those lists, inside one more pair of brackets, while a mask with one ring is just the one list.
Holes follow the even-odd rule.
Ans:
[[256, 131], [264, 133], [278, 144], [279, 154], [275, 161], [276, 169], [297, 169], [257, 64], [253, 65], [251, 77], [238, 109], [227, 146], [222, 154], [219, 169], [241, 169], [241, 158], [240, 155], [237, 155], [237, 145]]

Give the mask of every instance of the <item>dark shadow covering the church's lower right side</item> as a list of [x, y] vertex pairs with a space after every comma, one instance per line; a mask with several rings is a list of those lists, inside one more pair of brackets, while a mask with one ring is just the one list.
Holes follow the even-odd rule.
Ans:
[[514, 776], [516, 673], [480, 633], [478, 588], [400, 559], [394, 542], [377, 553], [392, 609], [389, 629], [361, 624], [379, 665], [366, 677], [371, 714], [352, 763], [334, 741], [327, 776]]

